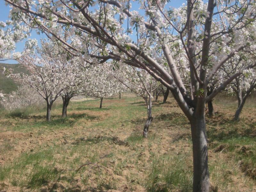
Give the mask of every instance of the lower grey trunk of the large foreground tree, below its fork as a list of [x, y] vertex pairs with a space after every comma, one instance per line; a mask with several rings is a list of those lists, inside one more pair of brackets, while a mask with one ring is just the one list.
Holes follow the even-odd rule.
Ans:
[[193, 192], [209, 192], [209, 168], [204, 114], [191, 120], [193, 141]]

